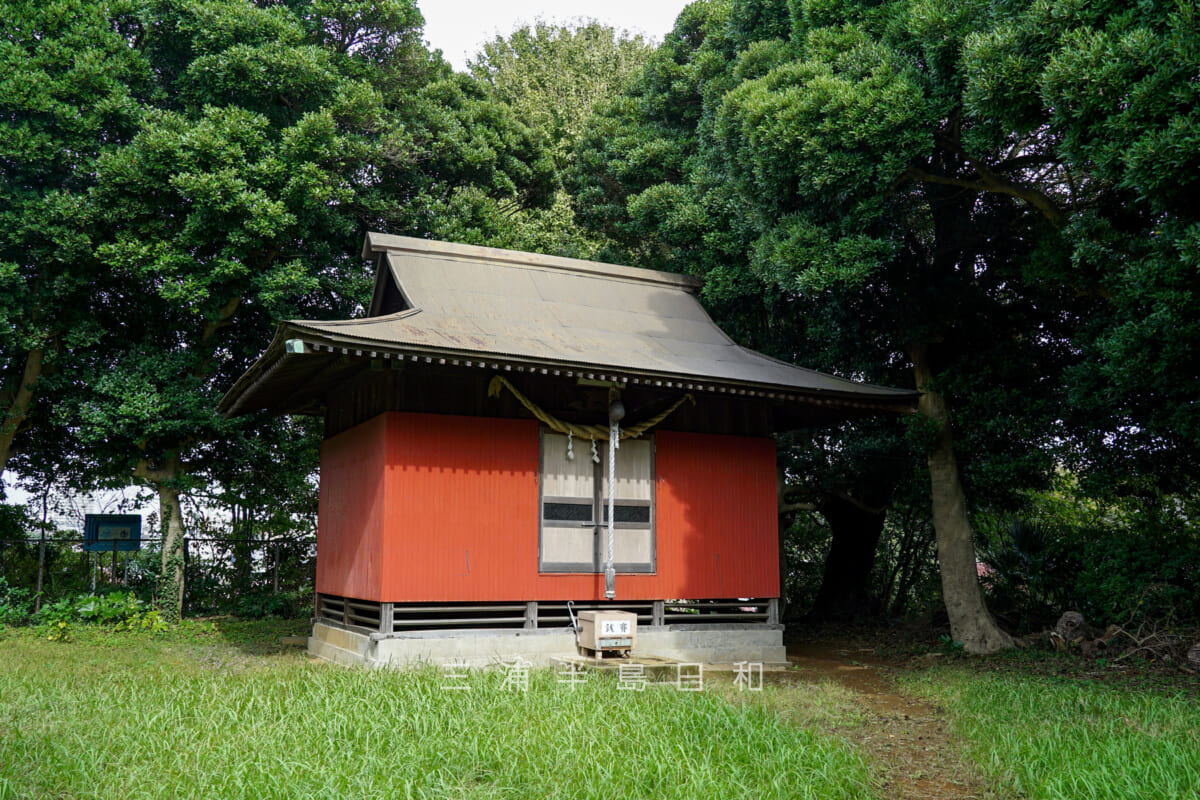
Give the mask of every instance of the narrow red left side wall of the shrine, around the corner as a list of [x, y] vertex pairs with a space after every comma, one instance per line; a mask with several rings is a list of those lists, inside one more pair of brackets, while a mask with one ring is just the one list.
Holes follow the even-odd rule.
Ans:
[[380, 599], [384, 431], [377, 416], [320, 445], [317, 591]]

